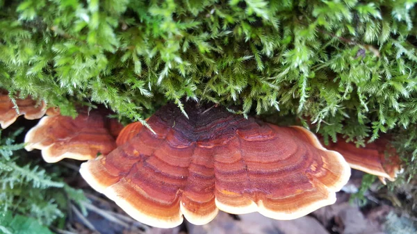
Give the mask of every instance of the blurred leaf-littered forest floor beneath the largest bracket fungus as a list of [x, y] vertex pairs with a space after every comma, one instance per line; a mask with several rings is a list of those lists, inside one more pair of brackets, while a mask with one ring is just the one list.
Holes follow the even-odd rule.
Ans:
[[[74, 165], [67, 166], [76, 170]], [[352, 178], [337, 193], [337, 201], [311, 214], [289, 221], [263, 217], [259, 213], [229, 215], [219, 212], [209, 224], [196, 226], [185, 221], [177, 228], [152, 228], [131, 219], [113, 201], [92, 190], [81, 178], [72, 179], [71, 184], [85, 191], [90, 203], [85, 203], [88, 216], [83, 217], [76, 206], [72, 206], [66, 231], [62, 234], [412, 234], [417, 233], [417, 219], [402, 211], [402, 203], [395, 194], [383, 187], [379, 181], [365, 193], [366, 204], [351, 199], [361, 186], [363, 172], [352, 171]]]

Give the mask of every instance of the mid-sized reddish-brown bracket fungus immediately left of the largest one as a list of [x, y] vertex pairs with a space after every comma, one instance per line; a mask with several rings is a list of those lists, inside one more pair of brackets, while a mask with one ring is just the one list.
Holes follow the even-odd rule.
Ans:
[[50, 108], [47, 116], [26, 133], [25, 149], [42, 150], [46, 162], [63, 158], [89, 160], [99, 153], [110, 153], [117, 147], [116, 138], [123, 126], [116, 119], [109, 119], [109, 114], [108, 110], [79, 108], [73, 119]]

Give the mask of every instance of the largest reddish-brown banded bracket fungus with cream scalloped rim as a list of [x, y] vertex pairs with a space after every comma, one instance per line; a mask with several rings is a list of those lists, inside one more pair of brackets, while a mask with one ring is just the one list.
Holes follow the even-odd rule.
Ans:
[[[221, 107], [163, 106], [127, 126], [120, 145], [81, 175], [138, 221], [161, 228], [206, 224], [218, 210], [296, 219], [336, 201], [350, 167], [304, 128], [243, 118]], [[134, 129], [137, 130], [133, 134]]]

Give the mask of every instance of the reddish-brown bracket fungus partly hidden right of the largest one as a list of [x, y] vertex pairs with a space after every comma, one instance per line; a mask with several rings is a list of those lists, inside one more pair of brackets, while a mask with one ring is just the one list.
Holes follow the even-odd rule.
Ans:
[[329, 143], [327, 149], [338, 151], [350, 167], [378, 176], [384, 184], [386, 179], [395, 181], [397, 175], [402, 172], [400, 156], [386, 135], [366, 144], [365, 147], [358, 148], [354, 142], [341, 139], [336, 143]]

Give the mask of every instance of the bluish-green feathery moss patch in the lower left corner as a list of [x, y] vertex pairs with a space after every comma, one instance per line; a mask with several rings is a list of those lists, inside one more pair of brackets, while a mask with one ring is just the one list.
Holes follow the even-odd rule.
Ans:
[[87, 199], [63, 182], [65, 169], [44, 166], [21, 150], [24, 144], [15, 144], [20, 133], [3, 137], [0, 130], [0, 233], [48, 233], [44, 226], [63, 223], [70, 202], [86, 213]]

